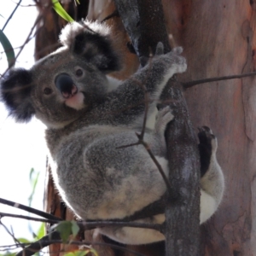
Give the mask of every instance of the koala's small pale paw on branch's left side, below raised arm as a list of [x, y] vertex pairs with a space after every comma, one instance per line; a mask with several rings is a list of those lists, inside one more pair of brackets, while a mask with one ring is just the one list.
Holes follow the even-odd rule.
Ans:
[[156, 121], [154, 125], [155, 133], [164, 134], [166, 125], [174, 118], [170, 107], [160, 109], [157, 113]]

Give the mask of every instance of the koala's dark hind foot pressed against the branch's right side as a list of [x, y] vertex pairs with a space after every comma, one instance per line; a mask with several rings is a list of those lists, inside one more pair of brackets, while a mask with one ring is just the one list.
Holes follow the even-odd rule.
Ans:
[[198, 128], [198, 138], [199, 138], [199, 152], [201, 161], [201, 177], [205, 175], [210, 166], [210, 161], [212, 154], [216, 153], [218, 143], [217, 138], [212, 134], [212, 131], [207, 126], [202, 126]]

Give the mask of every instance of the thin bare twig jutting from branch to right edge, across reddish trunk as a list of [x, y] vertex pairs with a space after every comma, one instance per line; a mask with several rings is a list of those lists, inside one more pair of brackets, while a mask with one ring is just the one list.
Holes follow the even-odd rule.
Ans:
[[189, 81], [189, 82], [185, 82], [185, 83], [181, 83], [181, 84], [183, 85], [183, 89], [186, 90], [186, 89], [188, 89], [192, 86], [195, 86], [197, 84], [205, 84], [205, 83], [222, 81], [222, 80], [230, 80], [230, 79], [242, 79], [242, 78], [246, 78], [246, 77], [253, 77], [255, 75], [256, 75], [256, 72], [243, 73], [240, 75], [216, 77], [216, 78], [211, 78], [211, 79], [199, 79], [199, 80]]

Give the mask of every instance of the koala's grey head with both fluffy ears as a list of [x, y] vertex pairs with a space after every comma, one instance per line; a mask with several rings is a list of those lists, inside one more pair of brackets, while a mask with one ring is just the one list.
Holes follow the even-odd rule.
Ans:
[[63, 45], [30, 69], [14, 68], [1, 80], [0, 95], [19, 122], [33, 115], [49, 128], [78, 119], [108, 90], [106, 74], [119, 70], [107, 26], [73, 22], [61, 32]]

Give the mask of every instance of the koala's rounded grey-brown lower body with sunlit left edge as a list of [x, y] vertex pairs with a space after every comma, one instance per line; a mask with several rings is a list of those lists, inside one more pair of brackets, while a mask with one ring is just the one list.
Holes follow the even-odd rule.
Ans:
[[142, 145], [118, 148], [137, 142], [135, 132], [108, 127], [76, 132], [56, 157], [55, 183], [80, 218], [125, 218], [166, 191]]

